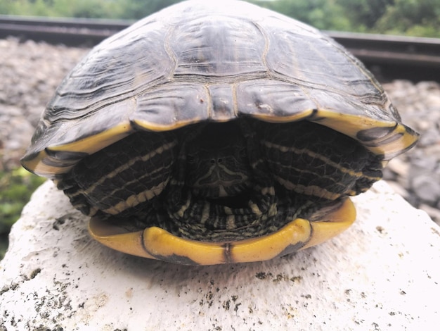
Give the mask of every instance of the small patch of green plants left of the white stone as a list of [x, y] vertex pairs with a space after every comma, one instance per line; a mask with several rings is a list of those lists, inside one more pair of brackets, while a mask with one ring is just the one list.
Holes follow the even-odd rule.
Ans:
[[0, 171], [0, 259], [8, 246], [8, 233], [20, 217], [23, 206], [44, 179], [23, 168]]

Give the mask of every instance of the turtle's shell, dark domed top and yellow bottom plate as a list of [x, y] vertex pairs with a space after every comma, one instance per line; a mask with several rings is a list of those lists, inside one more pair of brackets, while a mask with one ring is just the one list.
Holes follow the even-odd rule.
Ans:
[[[22, 165], [37, 175], [63, 181], [84, 158], [135, 132], [162, 135], [200, 123], [242, 118], [271, 125], [317, 123], [353, 139], [382, 165], [418, 140], [418, 134], [401, 123], [373, 75], [330, 37], [242, 1], [184, 1], [92, 49], [56, 90]], [[220, 244], [209, 238], [198, 242], [176, 237], [157, 227], [141, 231], [142, 235], [129, 232], [117, 237], [119, 230], [98, 218], [91, 223], [91, 233], [121, 251], [167, 261], [264, 260], [341, 232], [354, 220], [349, 204], [342, 201], [340, 208], [328, 213], [328, 218], [339, 222], [337, 230], [328, 227], [328, 219], [321, 218], [322, 227], [319, 221], [304, 220], [303, 226], [295, 219], [297, 223], [286, 223], [290, 228], [282, 235], [274, 232]], [[296, 237], [299, 232], [302, 239]], [[311, 232], [322, 236], [313, 237]], [[287, 239], [281, 240], [283, 235]], [[271, 254], [261, 253], [275, 242], [282, 244]], [[231, 255], [233, 249], [247, 253]], [[213, 257], [214, 251], [219, 258]]]

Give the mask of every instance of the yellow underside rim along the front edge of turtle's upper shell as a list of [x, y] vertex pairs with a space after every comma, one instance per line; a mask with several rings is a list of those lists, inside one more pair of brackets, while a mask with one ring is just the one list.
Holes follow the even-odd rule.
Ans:
[[[318, 120], [313, 120], [311, 116], [318, 118]], [[360, 115], [336, 113], [335, 111], [328, 111], [325, 109], [318, 109], [318, 111], [309, 109], [292, 116], [284, 117], [268, 115], [253, 115], [252, 117], [268, 123], [287, 123], [299, 120], [311, 120], [321, 125], [325, 125], [326, 127], [330, 127], [331, 129], [341, 132], [353, 139], [357, 139], [356, 136], [361, 130], [370, 130], [375, 127], [388, 128], [388, 135], [385, 137], [377, 137], [377, 139], [368, 142], [368, 146], [365, 147], [376, 155], [390, 155], [391, 157], [401, 154], [413, 147], [418, 141], [419, 136], [417, 132], [410, 130], [401, 123], [396, 123], [393, 120], [378, 120]], [[233, 118], [231, 118], [231, 120], [233, 120]], [[109, 146], [110, 144], [113, 144], [118, 140], [130, 135], [136, 130], [134, 126], [141, 127], [148, 131], [161, 132], [176, 130], [179, 127], [197, 122], [198, 120], [193, 120], [181, 122], [178, 123], [179, 125], [171, 126], [161, 126], [157, 125], [156, 123], [149, 123], [146, 121], [121, 123], [120, 125], [112, 127], [109, 130], [78, 139], [75, 142], [56, 146], [47, 146], [46, 149], [39, 151], [37, 154], [30, 154], [22, 158], [22, 165], [24, 168], [37, 175], [44, 177], [56, 177], [56, 175], [69, 172], [70, 169], [75, 165], [65, 167], [53, 165], [53, 163], [46, 161], [51, 159], [51, 152], [68, 151], [70, 153], [78, 152], [84, 154], [93, 154], [96, 151], [99, 151], [106, 146]], [[389, 139], [392, 137], [395, 139]], [[388, 158], [385, 158], [385, 161], [387, 160]]]

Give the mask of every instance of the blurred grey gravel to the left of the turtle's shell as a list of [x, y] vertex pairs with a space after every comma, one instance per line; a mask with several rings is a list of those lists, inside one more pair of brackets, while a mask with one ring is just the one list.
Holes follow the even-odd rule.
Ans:
[[0, 39], [0, 170], [19, 164], [45, 105], [87, 51]]

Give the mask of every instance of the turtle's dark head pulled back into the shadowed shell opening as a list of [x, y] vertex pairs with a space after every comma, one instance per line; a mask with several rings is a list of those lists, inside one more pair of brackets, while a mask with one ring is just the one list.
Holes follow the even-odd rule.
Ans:
[[247, 144], [235, 124], [210, 123], [188, 144], [186, 184], [209, 199], [236, 196], [250, 185]]

